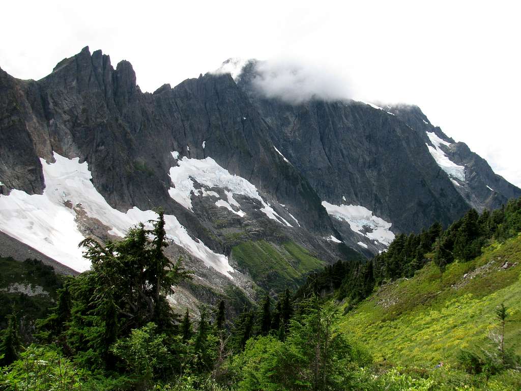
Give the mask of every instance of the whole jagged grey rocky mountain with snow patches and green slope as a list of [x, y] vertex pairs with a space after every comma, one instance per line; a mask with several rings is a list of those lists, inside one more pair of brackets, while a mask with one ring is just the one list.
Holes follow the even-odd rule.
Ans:
[[243, 302], [521, 196], [418, 107], [268, 98], [257, 64], [154, 93], [88, 47], [38, 81], [0, 70], [0, 230], [83, 271], [79, 241], [162, 207], [198, 277], [172, 300]]

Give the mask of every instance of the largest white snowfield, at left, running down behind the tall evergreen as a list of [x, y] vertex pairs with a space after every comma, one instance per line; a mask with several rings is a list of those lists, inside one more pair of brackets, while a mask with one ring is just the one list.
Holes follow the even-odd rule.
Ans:
[[[89, 269], [90, 262], [78, 248], [84, 237], [75, 221], [74, 209], [83, 209], [89, 217], [111, 227], [110, 234], [120, 237], [129, 227], [157, 218], [153, 211], [141, 211], [137, 207], [126, 213], [114, 209], [94, 188], [86, 162], [79, 163], [79, 157], [68, 159], [56, 152], [54, 158], [56, 162], [50, 164], [40, 159], [45, 180], [43, 194], [30, 196], [15, 189], [9, 196], [0, 196], [0, 230], [7, 235], [82, 272]], [[75, 208], [70, 209], [66, 202]], [[234, 270], [225, 255], [213, 252], [199, 239], [192, 239], [175, 216], [165, 215], [165, 223], [169, 239], [207, 266], [233, 278], [230, 273]]]

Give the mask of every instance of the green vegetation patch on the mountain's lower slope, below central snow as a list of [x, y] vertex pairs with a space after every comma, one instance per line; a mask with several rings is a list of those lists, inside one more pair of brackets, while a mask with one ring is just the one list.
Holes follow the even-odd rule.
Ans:
[[294, 242], [274, 245], [265, 240], [246, 241], [232, 248], [232, 259], [263, 288], [283, 290], [302, 283], [306, 274], [325, 265]]

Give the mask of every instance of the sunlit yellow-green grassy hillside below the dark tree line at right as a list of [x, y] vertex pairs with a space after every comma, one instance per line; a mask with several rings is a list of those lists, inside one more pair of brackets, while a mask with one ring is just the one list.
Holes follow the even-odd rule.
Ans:
[[505, 347], [521, 354], [520, 271], [521, 235], [494, 243], [472, 261], [451, 263], [443, 272], [429, 262], [413, 278], [377, 288], [342, 317], [341, 328], [380, 361], [455, 363], [460, 349], [490, 341], [497, 332], [494, 310], [504, 303], [510, 315]]

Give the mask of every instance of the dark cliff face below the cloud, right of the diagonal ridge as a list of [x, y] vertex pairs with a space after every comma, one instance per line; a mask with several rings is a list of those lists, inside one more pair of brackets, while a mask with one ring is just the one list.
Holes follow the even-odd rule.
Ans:
[[284, 103], [259, 92], [257, 67], [256, 60], [247, 62], [236, 81], [270, 125], [271, 140], [322, 200], [365, 206], [393, 230], [408, 232], [433, 221], [449, 224], [469, 207], [498, 207], [520, 194], [417, 106]]

